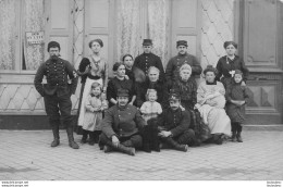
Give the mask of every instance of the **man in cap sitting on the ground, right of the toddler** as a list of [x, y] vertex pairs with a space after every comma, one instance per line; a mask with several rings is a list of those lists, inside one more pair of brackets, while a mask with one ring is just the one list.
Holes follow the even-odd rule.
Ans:
[[181, 110], [180, 99], [177, 92], [170, 92], [170, 108], [158, 117], [160, 148], [171, 147], [186, 152], [187, 145], [193, 146], [197, 140], [195, 132], [189, 128], [190, 115], [188, 111]]

